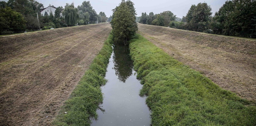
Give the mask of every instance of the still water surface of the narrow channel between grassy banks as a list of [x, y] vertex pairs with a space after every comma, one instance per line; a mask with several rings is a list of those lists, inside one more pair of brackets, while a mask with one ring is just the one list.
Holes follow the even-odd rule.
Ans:
[[145, 97], [139, 96], [142, 88], [136, 79], [128, 46], [115, 45], [106, 73], [108, 82], [102, 86], [104, 100], [97, 110], [98, 120], [91, 126], [149, 126], [150, 111]]

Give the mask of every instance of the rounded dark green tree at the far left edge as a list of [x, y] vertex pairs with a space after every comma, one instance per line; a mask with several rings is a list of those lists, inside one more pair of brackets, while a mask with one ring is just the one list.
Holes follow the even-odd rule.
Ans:
[[26, 21], [24, 17], [10, 7], [0, 8], [0, 32], [25, 30]]

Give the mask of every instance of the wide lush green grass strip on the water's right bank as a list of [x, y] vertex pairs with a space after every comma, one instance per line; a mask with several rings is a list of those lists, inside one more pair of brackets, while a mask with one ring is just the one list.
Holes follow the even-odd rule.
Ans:
[[153, 126], [255, 126], [256, 107], [138, 35], [130, 40]]

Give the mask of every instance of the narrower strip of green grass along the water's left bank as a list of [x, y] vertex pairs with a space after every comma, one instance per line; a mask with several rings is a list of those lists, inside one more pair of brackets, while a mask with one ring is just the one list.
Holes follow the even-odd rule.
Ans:
[[103, 101], [101, 86], [107, 82], [105, 79], [106, 68], [112, 53], [112, 44], [110, 43], [112, 43], [112, 34], [105, 41], [101, 51], [94, 58], [70, 98], [64, 103], [53, 125], [90, 126], [90, 119], [97, 119], [96, 110]]

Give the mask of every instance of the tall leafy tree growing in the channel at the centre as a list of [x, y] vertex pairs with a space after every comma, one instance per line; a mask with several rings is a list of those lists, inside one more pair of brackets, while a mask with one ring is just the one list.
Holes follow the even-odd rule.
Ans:
[[116, 44], [128, 44], [128, 40], [136, 34], [138, 26], [136, 23], [136, 11], [130, 0], [122, 2], [113, 9], [113, 19], [111, 26], [113, 28], [114, 42]]

